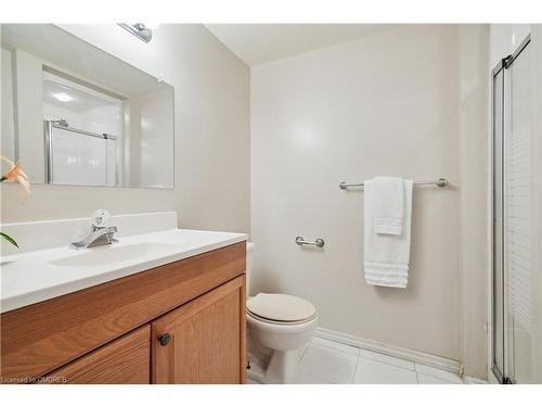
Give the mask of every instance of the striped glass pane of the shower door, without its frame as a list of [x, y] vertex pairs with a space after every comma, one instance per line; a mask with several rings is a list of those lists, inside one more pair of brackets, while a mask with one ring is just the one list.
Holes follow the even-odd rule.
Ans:
[[532, 382], [533, 354], [533, 191], [531, 165], [531, 63], [529, 47], [509, 67], [505, 127], [505, 269], [508, 371], [513, 382]]

